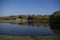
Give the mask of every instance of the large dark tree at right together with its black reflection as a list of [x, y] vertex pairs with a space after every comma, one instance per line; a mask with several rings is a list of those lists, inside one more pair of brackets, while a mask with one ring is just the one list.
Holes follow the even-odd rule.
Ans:
[[50, 16], [49, 25], [54, 32], [60, 34], [60, 11], [54, 12]]

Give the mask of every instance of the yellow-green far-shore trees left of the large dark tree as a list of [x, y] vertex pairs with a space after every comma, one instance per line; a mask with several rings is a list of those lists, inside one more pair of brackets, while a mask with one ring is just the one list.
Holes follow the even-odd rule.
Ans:
[[32, 20], [33, 22], [48, 22], [49, 21], [49, 15], [16, 15], [16, 16], [3, 16], [0, 17], [0, 21], [6, 21], [6, 20], [16, 20], [16, 19], [25, 19], [25, 20]]

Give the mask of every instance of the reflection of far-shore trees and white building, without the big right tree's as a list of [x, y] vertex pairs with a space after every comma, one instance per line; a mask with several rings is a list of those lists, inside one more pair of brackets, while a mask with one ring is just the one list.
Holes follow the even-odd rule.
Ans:
[[25, 22], [25, 23], [18, 23], [17, 25], [22, 25], [22, 26], [28, 25], [28, 26], [32, 26], [32, 27], [35, 27], [35, 26], [40, 27], [41, 25], [44, 25], [45, 27], [47, 27], [48, 23], [29, 21], [29, 22]]

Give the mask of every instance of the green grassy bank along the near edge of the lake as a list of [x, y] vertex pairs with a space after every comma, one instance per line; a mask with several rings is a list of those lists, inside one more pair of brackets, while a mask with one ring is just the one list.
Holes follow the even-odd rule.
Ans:
[[60, 36], [0, 36], [0, 40], [60, 40]]

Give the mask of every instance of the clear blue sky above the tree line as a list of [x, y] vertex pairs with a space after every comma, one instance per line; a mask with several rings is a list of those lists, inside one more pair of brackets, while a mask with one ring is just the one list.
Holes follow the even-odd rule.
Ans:
[[60, 0], [0, 0], [0, 16], [50, 15], [60, 11]]

